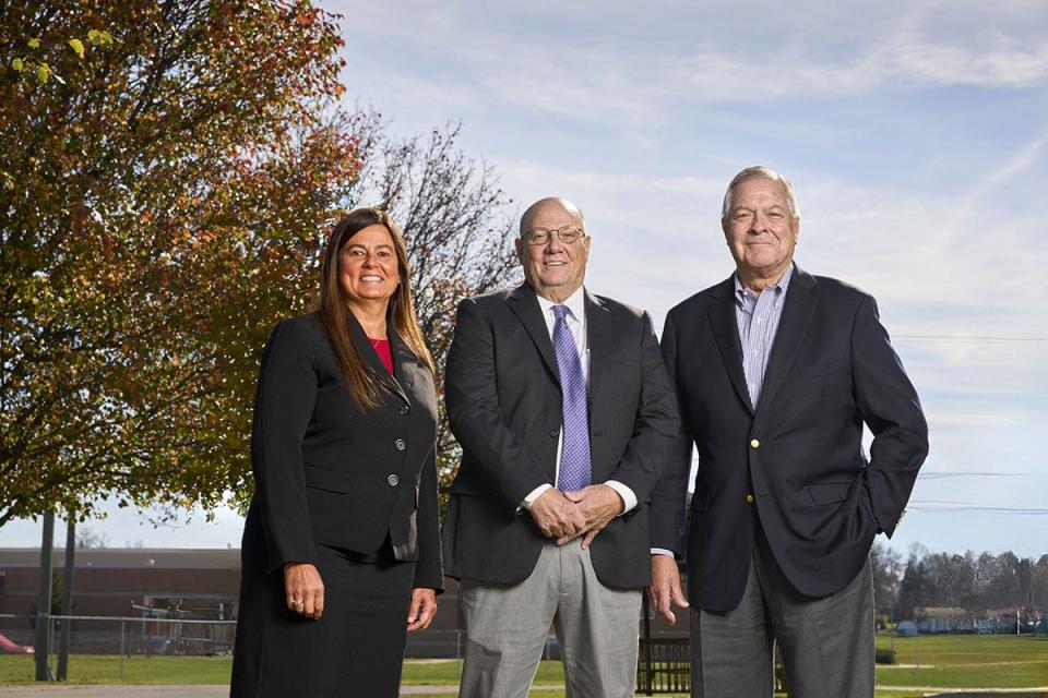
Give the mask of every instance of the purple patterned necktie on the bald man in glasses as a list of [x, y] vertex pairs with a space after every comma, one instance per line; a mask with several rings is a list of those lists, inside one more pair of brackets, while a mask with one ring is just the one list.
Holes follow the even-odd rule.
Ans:
[[563, 395], [564, 444], [560, 455], [557, 485], [561, 492], [581, 490], [590, 484], [590, 410], [586, 405], [586, 380], [575, 338], [568, 329], [567, 305], [553, 305], [553, 349], [560, 371]]

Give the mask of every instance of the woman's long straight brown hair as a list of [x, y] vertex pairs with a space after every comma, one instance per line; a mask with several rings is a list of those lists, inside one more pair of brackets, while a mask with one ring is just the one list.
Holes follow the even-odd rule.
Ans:
[[407, 246], [404, 234], [396, 224], [378, 208], [356, 208], [342, 217], [327, 238], [324, 260], [320, 270], [320, 320], [335, 350], [342, 373], [349, 392], [360, 406], [378, 407], [379, 390], [371, 380], [371, 370], [353, 341], [349, 323], [352, 311], [338, 285], [338, 253], [342, 248], [360, 230], [368, 226], [382, 226], [390, 232], [393, 249], [396, 251], [396, 268], [401, 282], [393, 291], [386, 309], [386, 323], [393, 325], [397, 336], [415, 352], [429, 369], [433, 369], [433, 358], [426, 347], [426, 339], [418, 326], [415, 304], [412, 302], [410, 269], [407, 266]]

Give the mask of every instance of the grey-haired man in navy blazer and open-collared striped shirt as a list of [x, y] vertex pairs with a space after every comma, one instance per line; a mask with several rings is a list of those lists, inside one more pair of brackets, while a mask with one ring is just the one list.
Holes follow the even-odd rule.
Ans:
[[[663, 356], [681, 431], [653, 494], [653, 603], [687, 605], [692, 696], [767, 698], [777, 641], [790, 696], [873, 696], [869, 552], [891, 537], [928, 453], [914, 386], [877, 303], [794, 264], [800, 212], [751, 167], [720, 219], [736, 273], [674, 308]], [[864, 423], [873, 433], [869, 458]]]

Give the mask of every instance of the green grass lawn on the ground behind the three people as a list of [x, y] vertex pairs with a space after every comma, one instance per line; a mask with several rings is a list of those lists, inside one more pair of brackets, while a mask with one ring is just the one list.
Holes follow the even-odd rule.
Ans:
[[[1048, 636], [963, 635], [897, 638], [878, 636], [879, 648], [894, 647], [900, 665], [878, 665], [880, 686], [936, 686], [943, 688], [1034, 688], [1048, 686]], [[51, 658], [51, 666], [57, 661]], [[123, 683], [128, 684], [226, 684], [228, 657], [134, 655], [123, 660]], [[458, 683], [462, 662], [407, 660], [404, 685], [446, 685], [446, 696]], [[0, 685], [33, 682], [32, 655], [0, 654]], [[118, 684], [120, 658], [74, 654], [69, 662], [70, 683]], [[563, 698], [563, 690], [543, 689], [562, 685], [560, 662], [543, 662], [535, 677], [537, 698]], [[920, 691], [878, 690], [878, 698], [918, 698]]]

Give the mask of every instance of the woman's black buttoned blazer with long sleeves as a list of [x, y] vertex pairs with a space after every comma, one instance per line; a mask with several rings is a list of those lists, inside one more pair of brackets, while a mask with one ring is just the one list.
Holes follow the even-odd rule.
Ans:
[[353, 340], [379, 387], [358, 407], [318, 313], [279, 323], [262, 354], [245, 538], [265, 541], [266, 569], [315, 563], [318, 543], [371, 553], [389, 533], [417, 561], [415, 587], [441, 589], [437, 522], [437, 396], [426, 364], [389, 327], [389, 375], [360, 325]]

